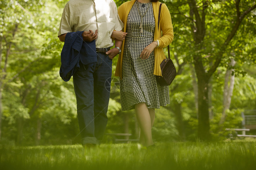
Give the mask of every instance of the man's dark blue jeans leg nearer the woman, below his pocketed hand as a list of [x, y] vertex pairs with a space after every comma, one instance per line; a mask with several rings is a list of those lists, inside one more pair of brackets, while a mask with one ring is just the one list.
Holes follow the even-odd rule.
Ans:
[[104, 53], [98, 53], [98, 62], [93, 73], [94, 77], [94, 125], [95, 137], [102, 140], [107, 126], [107, 108], [110, 87], [105, 87], [106, 80], [111, 81], [112, 60]]

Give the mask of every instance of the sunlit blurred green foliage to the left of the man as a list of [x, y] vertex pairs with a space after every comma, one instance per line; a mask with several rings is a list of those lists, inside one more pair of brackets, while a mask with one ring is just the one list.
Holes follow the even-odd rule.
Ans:
[[[73, 83], [64, 84], [58, 75], [62, 43], [56, 32], [61, 11], [50, 0], [1, 1], [0, 5], [1, 68], [6, 68], [0, 71], [3, 136], [21, 144], [15, 134], [22, 135], [18, 138], [33, 144], [33, 136], [47, 123], [60, 120], [58, 125], [70, 125], [76, 118]], [[46, 121], [52, 114], [55, 119]], [[13, 135], [8, 135], [8, 130]]]

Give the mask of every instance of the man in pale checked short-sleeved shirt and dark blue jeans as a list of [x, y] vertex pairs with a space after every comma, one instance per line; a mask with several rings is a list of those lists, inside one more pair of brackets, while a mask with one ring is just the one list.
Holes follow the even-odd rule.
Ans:
[[71, 32], [84, 31], [81, 37], [84, 42], [95, 40], [96, 43], [97, 62], [80, 55], [79, 69], [73, 74], [84, 147], [100, 144], [104, 135], [110, 97], [110, 87], [106, 88], [105, 82], [111, 77], [112, 59], [120, 53], [122, 43], [116, 41], [115, 48], [110, 50], [114, 45], [111, 34], [123, 27], [113, 0], [70, 0], [63, 9], [58, 34], [60, 41], [65, 42], [65, 36]]

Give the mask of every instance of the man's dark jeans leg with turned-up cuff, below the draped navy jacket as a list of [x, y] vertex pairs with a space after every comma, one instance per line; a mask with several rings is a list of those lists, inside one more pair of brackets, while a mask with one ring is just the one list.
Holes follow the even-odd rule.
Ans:
[[77, 118], [82, 136], [82, 145], [86, 143], [96, 144], [94, 136], [94, 97], [93, 97], [93, 72], [95, 63], [83, 65], [73, 75], [74, 90], [77, 98]]

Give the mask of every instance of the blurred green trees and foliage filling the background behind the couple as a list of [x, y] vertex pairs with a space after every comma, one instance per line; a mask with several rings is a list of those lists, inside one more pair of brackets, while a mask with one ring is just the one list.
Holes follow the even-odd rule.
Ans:
[[[80, 143], [73, 82], [59, 76], [63, 42], [57, 33], [66, 2], [0, 1], [1, 143]], [[115, 2], [120, 6], [125, 0]], [[162, 2], [174, 26], [171, 58], [177, 77], [169, 86], [171, 104], [156, 109], [154, 139], [194, 141], [209, 133], [221, 140], [225, 128], [241, 128], [241, 112], [256, 109], [255, 1]], [[202, 88], [207, 89], [203, 98]], [[119, 90], [110, 94], [108, 117], [107, 133], [138, 139], [134, 110], [121, 111]]]

